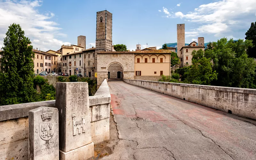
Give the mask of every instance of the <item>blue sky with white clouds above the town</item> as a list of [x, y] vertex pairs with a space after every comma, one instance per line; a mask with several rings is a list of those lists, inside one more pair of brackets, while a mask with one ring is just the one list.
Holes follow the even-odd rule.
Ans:
[[[77, 45], [86, 36], [86, 48], [95, 47], [96, 12], [113, 14], [113, 44], [135, 50], [177, 42], [177, 24], [185, 23], [185, 43], [204, 37], [244, 39], [256, 21], [256, 0], [0, 0], [0, 48], [8, 27], [20, 24], [33, 48], [58, 50]], [[148, 45], [147, 45], [148, 44]]]

